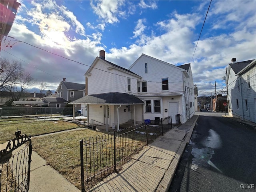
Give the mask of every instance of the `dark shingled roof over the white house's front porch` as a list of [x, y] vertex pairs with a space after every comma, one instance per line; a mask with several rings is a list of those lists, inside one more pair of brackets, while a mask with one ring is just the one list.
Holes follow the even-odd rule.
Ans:
[[102, 93], [84, 96], [70, 104], [144, 104], [144, 102], [133, 95], [127, 93]]

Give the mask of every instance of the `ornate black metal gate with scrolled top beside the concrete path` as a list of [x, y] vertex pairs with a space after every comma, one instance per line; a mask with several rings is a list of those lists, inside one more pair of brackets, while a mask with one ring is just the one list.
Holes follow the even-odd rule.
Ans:
[[9, 141], [0, 151], [0, 191], [28, 192], [30, 182], [30, 162], [32, 154], [31, 135], [20, 135]]

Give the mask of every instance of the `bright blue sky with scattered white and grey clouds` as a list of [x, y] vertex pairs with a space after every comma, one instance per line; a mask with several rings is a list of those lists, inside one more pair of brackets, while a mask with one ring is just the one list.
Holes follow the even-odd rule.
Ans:
[[[100, 50], [129, 68], [142, 54], [181, 65], [191, 61], [199, 94], [225, 90], [225, 67], [256, 58], [256, 1], [65, 1], [17, 0], [22, 5], [1, 57], [18, 60], [38, 84], [55, 91], [62, 78], [84, 83]], [[4, 43], [13, 44], [4, 46]], [[25, 42], [25, 43], [24, 43]], [[36, 47], [42, 48], [40, 50]], [[75, 60], [82, 64], [72, 62]]]

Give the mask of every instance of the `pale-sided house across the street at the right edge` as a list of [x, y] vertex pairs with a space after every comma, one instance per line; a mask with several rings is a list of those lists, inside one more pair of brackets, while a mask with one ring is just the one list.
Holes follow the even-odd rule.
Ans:
[[256, 122], [256, 60], [231, 62], [226, 69], [229, 115]]

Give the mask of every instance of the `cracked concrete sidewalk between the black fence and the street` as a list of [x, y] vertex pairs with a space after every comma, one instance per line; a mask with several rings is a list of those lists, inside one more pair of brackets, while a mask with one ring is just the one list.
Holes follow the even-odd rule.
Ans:
[[166, 192], [189, 142], [198, 115], [158, 137], [122, 166], [91, 188], [93, 192]]

